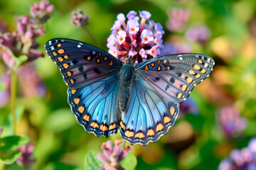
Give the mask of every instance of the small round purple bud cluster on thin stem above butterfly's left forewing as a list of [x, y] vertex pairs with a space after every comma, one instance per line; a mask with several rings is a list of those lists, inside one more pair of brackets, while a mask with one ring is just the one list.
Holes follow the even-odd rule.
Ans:
[[88, 24], [89, 17], [81, 9], [71, 13], [71, 23], [75, 26], [82, 27]]

